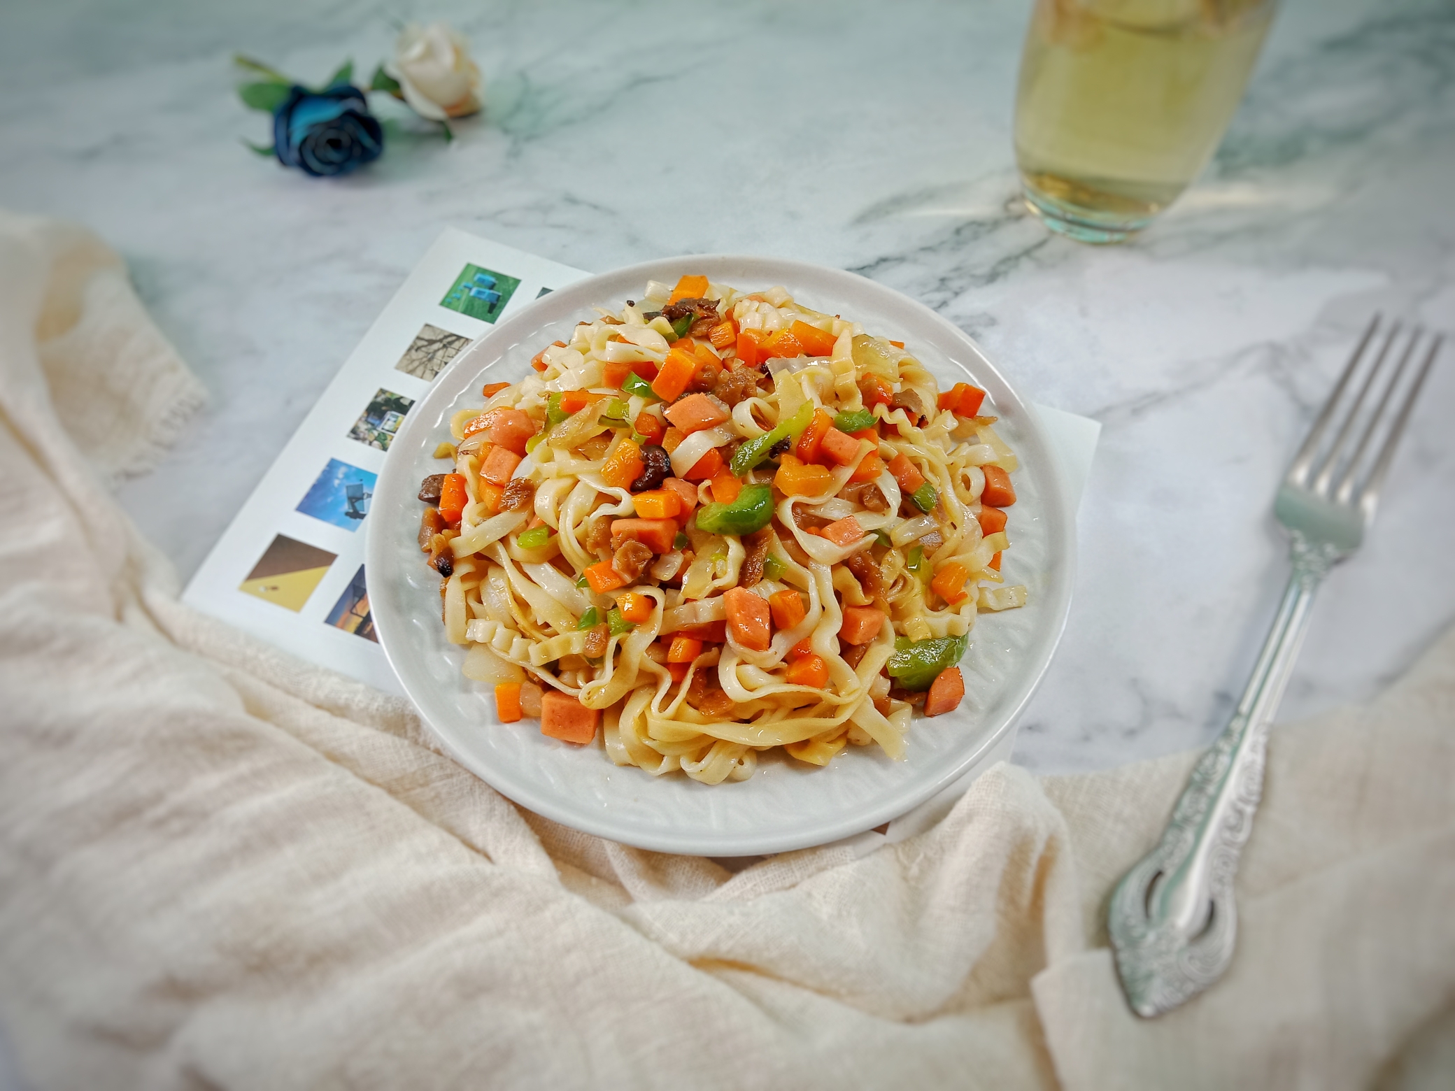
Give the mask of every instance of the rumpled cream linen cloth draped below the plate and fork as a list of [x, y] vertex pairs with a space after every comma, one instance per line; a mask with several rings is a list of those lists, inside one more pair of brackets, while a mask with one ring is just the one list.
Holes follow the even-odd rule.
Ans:
[[178, 602], [106, 481], [201, 400], [115, 255], [0, 215], [0, 1023], [35, 1087], [1438, 1085], [1455, 637], [1275, 732], [1234, 964], [1142, 1021], [1104, 899], [1192, 755], [997, 765], [917, 836], [736, 874], [565, 829]]

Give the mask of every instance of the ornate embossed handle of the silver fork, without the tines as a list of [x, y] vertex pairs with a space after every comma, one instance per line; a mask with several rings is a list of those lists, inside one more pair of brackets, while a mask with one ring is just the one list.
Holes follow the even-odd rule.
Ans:
[[1212, 985], [1232, 959], [1232, 879], [1263, 796], [1269, 723], [1334, 559], [1293, 537], [1293, 573], [1231, 723], [1193, 767], [1157, 848], [1112, 893], [1107, 931], [1138, 1015], [1176, 1008]]

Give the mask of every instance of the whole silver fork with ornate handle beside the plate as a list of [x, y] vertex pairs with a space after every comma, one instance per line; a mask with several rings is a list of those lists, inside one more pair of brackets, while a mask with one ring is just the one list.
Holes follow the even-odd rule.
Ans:
[[[1122, 988], [1138, 1015], [1176, 1008], [1212, 985], [1232, 959], [1232, 879], [1263, 796], [1269, 722], [1304, 643], [1314, 592], [1330, 566], [1363, 541], [1400, 433], [1443, 339], [1435, 336], [1420, 359], [1422, 329], [1401, 339], [1394, 323], [1376, 339], [1378, 329], [1376, 314], [1279, 486], [1273, 513], [1292, 540], [1293, 575], [1232, 722], [1199, 758], [1157, 848], [1112, 893], [1107, 930]], [[1376, 340], [1374, 364], [1360, 367]], [[1387, 362], [1395, 358], [1391, 374]], [[1419, 364], [1407, 377], [1411, 359]]]

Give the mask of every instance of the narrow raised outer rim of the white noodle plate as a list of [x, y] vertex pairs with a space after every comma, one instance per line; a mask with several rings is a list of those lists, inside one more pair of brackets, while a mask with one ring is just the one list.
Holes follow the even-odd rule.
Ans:
[[[400, 671], [399, 656], [396, 655], [396, 647], [400, 644], [396, 642], [404, 640], [407, 627], [403, 618], [399, 620], [399, 628], [394, 628], [394, 621], [390, 621], [388, 611], [391, 604], [386, 605], [384, 611], [378, 611], [377, 607], [381, 604], [388, 604], [387, 598], [375, 601], [374, 627], [378, 636], [380, 647], [388, 660], [390, 669], [399, 679], [400, 688], [406, 694], [409, 703], [413, 706], [415, 713], [419, 716], [420, 722], [428, 729], [432, 739], [444, 748], [445, 754], [450, 755], [453, 761], [469, 770], [476, 777], [480, 777], [486, 784], [499, 791], [506, 799], [514, 803], [533, 810], [534, 813], [547, 818], [553, 822], [559, 822], [572, 829], [578, 829], [583, 834], [592, 836], [601, 836], [608, 841], [615, 841], [626, 845], [633, 845], [636, 848], [643, 848], [658, 852], [669, 852], [677, 855], [707, 855], [707, 857], [739, 857], [739, 855], [761, 855], [771, 852], [786, 852], [800, 848], [810, 848], [815, 845], [831, 844], [847, 836], [854, 836], [864, 831], [873, 829], [885, 822], [889, 822], [914, 807], [920, 806], [925, 800], [934, 797], [937, 793], [950, 787], [960, 777], [965, 777], [975, 765], [994, 749], [1008, 732], [1014, 730], [1016, 724], [1020, 722], [1026, 711], [1032, 697], [1040, 688], [1046, 672], [1051, 668], [1051, 660], [1055, 658], [1056, 650], [1061, 646], [1061, 640], [1065, 636], [1067, 621], [1071, 612], [1071, 599], [1075, 585], [1075, 567], [1077, 567], [1077, 527], [1075, 527], [1075, 508], [1069, 502], [1065, 481], [1065, 470], [1061, 465], [1059, 457], [1056, 455], [1055, 445], [1052, 444], [1046, 426], [1036, 412], [1035, 406], [1026, 401], [1020, 391], [1013, 383], [1010, 383], [994, 361], [985, 353], [979, 343], [970, 337], [963, 329], [956, 326], [953, 321], [938, 314], [933, 308], [920, 303], [904, 292], [890, 288], [889, 285], [879, 284], [861, 273], [848, 272], [845, 269], [835, 269], [831, 266], [815, 265], [812, 262], [800, 262], [794, 259], [771, 257], [771, 256], [755, 256], [755, 255], [730, 255], [730, 253], [711, 253], [711, 255], [677, 255], [669, 257], [658, 257], [649, 262], [637, 262], [634, 265], [620, 266], [604, 273], [586, 275], [579, 281], [573, 281], [562, 288], [550, 292], [550, 295], [533, 301], [531, 305], [521, 308], [517, 314], [505, 319], [499, 324], [492, 326], [485, 330], [479, 337], [473, 339], [466, 348], [463, 348], [453, 361], [435, 377], [431, 384], [431, 390], [419, 399], [419, 409], [423, 409], [425, 403], [431, 397], [436, 396], [436, 391], [445, 390], [445, 378], [455, 371], [471, 367], [471, 359], [482, 355], [486, 349], [495, 349], [496, 345], [501, 346], [503, 353], [515, 343], [515, 332], [518, 329], [527, 329], [540, 321], [535, 316], [538, 314], [538, 304], [553, 304], [563, 305], [566, 313], [582, 311], [594, 305], [589, 300], [576, 303], [578, 295], [589, 297], [595, 285], [610, 281], [617, 281], [621, 278], [637, 278], [643, 285], [647, 279], [661, 279], [661, 275], [672, 275], [674, 271], [679, 271], [687, 265], [703, 265], [723, 266], [723, 265], [751, 265], [751, 266], [768, 266], [773, 269], [783, 271], [783, 276], [774, 273], [767, 279], [774, 279], [777, 284], [792, 284], [793, 273], [800, 276], [808, 273], [815, 279], [826, 278], [829, 284], [838, 282], [845, 287], [853, 287], [856, 291], [873, 291], [885, 292], [893, 297], [895, 303], [899, 305], [908, 305], [911, 311], [917, 314], [924, 321], [937, 326], [944, 335], [952, 340], [959, 342], [965, 349], [968, 349], [979, 362], [979, 367], [985, 368], [989, 375], [1001, 385], [1004, 396], [997, 396], [994, 400], [998, 406], [1008, 407], [1014, 406], [1020, 415], [1020, 420], [1024, 422], [1026, 431], [1033, 439], [1033, 445], [1042, 448], [1042, 455], [1045, 461], [1045, 496], [1042, 499], [1042, 515], [1046, 518], [1053, 516], [1053, 522], [1049, 528], [1049, 553], [1051, 564], [1048, 564], [1048, 572], [1056, 573], [1058, 579], [1052, 585], [1052, 601], [1046, 605], [1053, 610], [1053, 618], [1051, 623], [1049, 639], [1045, 640], [1037, 660], [1033, 663], [1033, 671], [1024, 675], [1018, 692], [1011, 691], [1014, 701], [1010, 704], [1008, 710], [1002, 713], [1001, 722], [994, 727], [992, 732], [986, 733], [979, 745], [966, 748], [962, 754], [956, 756], [953, 762], [946, 764], [944, 768], [937, 770], [933, 777], [925, 778], [909, 787], [904, 787], [896, 793], [888, 794], [882, 802], [873, 807], [867, 807], [863, 812], [854, 815], [838, 815], [835, 818], [824, 818], [810, 820], [809, 823], [789, 822], [786, 831], [776, 834], [749, 834], [749, 835], [732, 835], [726, 834], [714, 838], [711, 844], [703, 844], [697, 836], [687, 835], [679, 836], [672, 832], [656, 832], [656, 831], [637, 831], [630, 825], [615, 823], [608, 812], [604, 813], [588, 813], [585, 809], [573, 810], [566, 803], [562, 803], [557, 796], [550, 793], [540, 793], [533, 784], [522, 783], [518, 778], [509, 775], [509, 771], [502, 771], [499, 768], [492, 768], [487, 762], [479, 761], [474, 755], [461, 751], [450, 739], [448, 732], [441, 730], [425, 706], [415, 700], [410, 692], [410, 685], [404, 672]], [[813, 291], [812, 288], [809, 291]], [[479, 367], [479, 365], [476, 365]], [[406, 468], [406, 460], [403, 455], [394, 457], [396, 451], [406, 451], [410, 447], [410, 438], [415, 431], [422, 428], [431, 428], [425, 423], [426, 413], [409, 413], [404, 417], [399, 433], [390, 444], [390, 449], [386, 452], [384, 465], [378, 474], [377, 490], [388, 496], [393, 489], [400, 487], [396, 479], [403, 476], [403, 486], [409, 484]], [[374, 521], [370, 519], [365, 527], [365, 570], [367, 572], [387, 572], [390, 564], [384, 553], [384, 535], [374, 534]], [[393, 633], [393, 636], [391, 636]], [[647, 774], [642, 774], [647, 781], [653, 780]], [[726, 788], [730, 790], [730, 788]], [[908, 797], [908, 802], [906, 802]]]

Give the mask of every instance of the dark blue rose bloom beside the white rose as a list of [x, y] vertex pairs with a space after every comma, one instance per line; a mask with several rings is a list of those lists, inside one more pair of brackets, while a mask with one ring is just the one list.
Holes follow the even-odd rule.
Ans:
[[294, 84], [274, 111], [274, 153], [285, 167], [327, 177], [378, 159], [384, 131], [349, 83], [311, 92]]

